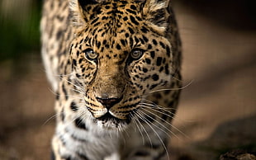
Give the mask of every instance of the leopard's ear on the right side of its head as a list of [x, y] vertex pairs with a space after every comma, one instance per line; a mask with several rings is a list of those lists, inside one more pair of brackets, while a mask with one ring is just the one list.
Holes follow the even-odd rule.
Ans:
[[170, 0], [139, 0], [142, 15], [155, 31], [164, 34], [168, 30]]

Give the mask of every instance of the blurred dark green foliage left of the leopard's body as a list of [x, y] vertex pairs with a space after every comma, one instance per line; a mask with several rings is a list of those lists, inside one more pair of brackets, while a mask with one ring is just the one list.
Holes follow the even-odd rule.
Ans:
[[0, 12], [0, 62], [20, 59], [35, 50], [40, 52], [40, 4], [33, 1], [29, 14], [20, 21]]

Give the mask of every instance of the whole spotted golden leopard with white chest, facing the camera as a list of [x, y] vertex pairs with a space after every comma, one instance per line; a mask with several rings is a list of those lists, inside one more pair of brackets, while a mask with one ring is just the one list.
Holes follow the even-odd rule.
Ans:
[[44, 0], [52, 160], [169, 159], [182, 87], [170, 0]]

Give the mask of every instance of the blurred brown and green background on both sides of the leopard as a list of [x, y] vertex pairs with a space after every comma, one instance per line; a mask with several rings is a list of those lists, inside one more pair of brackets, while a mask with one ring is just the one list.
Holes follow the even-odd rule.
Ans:
[[[0, 1], [0, 159], [50, 158], [54, 94], [40, 59], [42, 0]], [[183, 89], [172, 159], [256, 151], [256, 10], [249, 0], [173, 0]], [[185, 134], [185, 135], [184, 135]]]

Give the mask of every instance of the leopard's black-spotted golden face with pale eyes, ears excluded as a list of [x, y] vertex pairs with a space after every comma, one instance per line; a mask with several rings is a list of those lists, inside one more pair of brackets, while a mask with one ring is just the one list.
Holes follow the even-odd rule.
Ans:
[[[170, 42], [150, 26], [140, 3], [103, 2], [88, 6], [70, 46], [72, 78], [86, 108], [98, 125], [128, 125], [140, 103], [171, 79]], [[85, 18], [85, 19], [86, 19]]]

